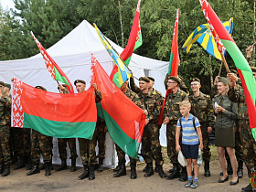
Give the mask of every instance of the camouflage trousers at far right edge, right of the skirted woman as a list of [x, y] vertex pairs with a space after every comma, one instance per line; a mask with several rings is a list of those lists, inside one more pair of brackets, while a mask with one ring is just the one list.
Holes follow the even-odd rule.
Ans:
[[256, 168], [256, 142], [252, 136], [249, 121], [239, 121], [243, 159], [248, 170]]

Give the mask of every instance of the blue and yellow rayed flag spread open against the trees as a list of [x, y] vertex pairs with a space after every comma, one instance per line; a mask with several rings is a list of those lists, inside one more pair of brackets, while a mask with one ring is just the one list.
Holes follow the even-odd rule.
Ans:
[[[233, 32], [233, 17], [231, 17], [229, 21], [222, 22], [222, 24], [231, 35]], [[210, 55], [221, 60], [219, 49], [217, 48], [216, 41], [211, 34], [208, 24], [203, 24], [197, 27], [187, 38], [182, 48], [188, 53], [192, 44], [195, 42], [203, 47]]]

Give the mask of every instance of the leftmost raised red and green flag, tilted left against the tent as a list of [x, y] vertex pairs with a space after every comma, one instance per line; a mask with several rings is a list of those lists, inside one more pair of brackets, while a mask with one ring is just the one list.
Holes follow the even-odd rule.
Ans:
[[37, 47], [40, 50], [40, 53], [42, 54], [43, 58], [45, 59], [45, 63], [47, 65], [48, 71], [50, 73], [50, 76], [53, 80], [59, 80], [67, 85], [67, 89], [69, 93], [74, 93], [72, 84], [70, 83], [68, 77], [66, 74], [62, 71], [62, 69], [59, 68], [59, 65], [48, 55], [48, 52], [45, 48], [40, 44], [40, 42], [37, 40], [37, 38], [34, 36], [33, 32], [31, 31], [31, 36], [34, 38], [34, 40], [37, 43]]

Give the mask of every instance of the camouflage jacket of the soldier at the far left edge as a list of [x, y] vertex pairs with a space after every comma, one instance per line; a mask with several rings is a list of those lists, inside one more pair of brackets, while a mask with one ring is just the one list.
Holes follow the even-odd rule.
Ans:
[[10, 96], [2, 95], [0, 99], [0, 127], [9, 126], [11, 123], [12, 99]]

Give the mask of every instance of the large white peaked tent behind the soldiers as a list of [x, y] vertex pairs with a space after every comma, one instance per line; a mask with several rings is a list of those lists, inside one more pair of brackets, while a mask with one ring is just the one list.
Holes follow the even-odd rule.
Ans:
[[[31, 37], [32, 38], [32, 37]], [[113, 48], [119, 53], [123, 48], [114, 44], [110, 40]], [[36, 47], [35, 43], [35, 47]], [[44, 46], [44, 45], [43, 45]], [[81, 79], [90, 83], [91, 78], [91, 53], [99, 60], [103, 69], [108, 74], [112, 71], [112, 58], [101, 44], [96, 30], [86, 20], [74, 28], [66, 37], [47, 49], [48, 54], [57, 62], [59, 67], [66, 73], [69, 80]], [[161, 91], [165, 95], [165, 74], [168, 70], [168, 62], [148, 59], [133, 54], [129, 68], [133, 70], [133, 75], [137, 78], [141, 76], [151, 76], [155, 78], [155, 89]], [[11, 83], [11, 79], [16, 77], [31, 86], [41, 85], [48, 91], [59, 92], [57, 83], [52, 80], [48, 69], [46, 68], [44, 59], [38, 53], [28, 59], [16, 59], [0, 61], [0, 80]], [[137, 80], [135, 80], [138, 83]], [[74, 87], [75, 89], [75, 87]], [[165, 128], [161, 129], [161, 144], [165, 142]], [[107, 151], [112, 153], [112, 142], [107, 141]], [[105, 165], [112, 164], [112, 155], [107, 155]]]

